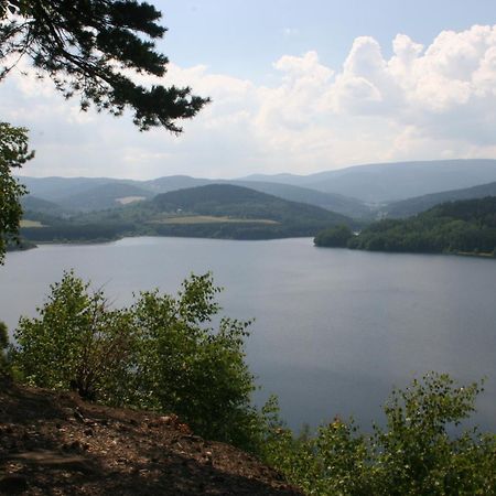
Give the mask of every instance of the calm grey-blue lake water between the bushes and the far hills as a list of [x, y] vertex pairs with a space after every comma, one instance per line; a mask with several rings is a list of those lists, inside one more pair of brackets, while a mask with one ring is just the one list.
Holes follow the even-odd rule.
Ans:
[[176, 292], [192, 271], [214, 272], [225, 313], [252, 319], [248, 362], [279, 396], [290, 425], [353, 414], [380, 420], [393, 385], [435, 369], [487, 377], [477, 421], [496, 429], [496, 260], [319, 249], [311, 239], [226, 241], [130, 238], [42, 246], [0, 268], [0, 319], [34, 315], [64, 269], [105, 284], [119, 304], [132, 292]]

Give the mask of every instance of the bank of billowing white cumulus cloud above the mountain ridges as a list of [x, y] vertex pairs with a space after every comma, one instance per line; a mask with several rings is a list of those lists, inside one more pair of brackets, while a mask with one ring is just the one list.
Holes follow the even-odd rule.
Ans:
[[2, 84], [0, 114], [32, 130], [39, 153], [26, 173], [36, 175], [233, 177], [494, 157], [496, 26], [443, 31], [425, 46], [398, 34], [391, 45], [387, 58], [374, 37], [357, 37], [341, 67], [315, 51], [283, 55], [271, 85], [171, 65], [164, 84], [213, 99], [179, 138], [139, 133], [127, 118], [82, 114], [50, 79], [20, 72]]

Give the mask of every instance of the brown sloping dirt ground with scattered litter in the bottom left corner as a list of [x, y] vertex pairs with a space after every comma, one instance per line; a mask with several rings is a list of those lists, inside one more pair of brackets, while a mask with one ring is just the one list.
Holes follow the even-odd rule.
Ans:
[[0, 494], [301, 495], [252, 456], [175, 416], [0, 381]]

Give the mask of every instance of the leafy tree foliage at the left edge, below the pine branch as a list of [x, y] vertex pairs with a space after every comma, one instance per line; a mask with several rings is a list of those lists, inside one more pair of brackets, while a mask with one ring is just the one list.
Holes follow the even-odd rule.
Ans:
[[26, 132], [24, 128], [0, 122], [0, 265], [8, 241], [18, 240], [22, 216], [20, 198], [25, 188], [12, 176], [12, 169], [21, 168], [34, 155], [28, 150]]

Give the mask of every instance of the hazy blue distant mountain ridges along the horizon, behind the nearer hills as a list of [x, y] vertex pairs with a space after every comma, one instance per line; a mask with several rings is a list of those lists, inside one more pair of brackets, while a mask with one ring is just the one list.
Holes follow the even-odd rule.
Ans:
[[[25, 209], [60, 215], [114, 208], [157, 194], [220, 183], [320, 206], [348, 217], [371, 219], [377, 215], [414, 214], [443, 201], [494, 194], [489, 186], [482, 185], [496, 182], [496, 160], [382, 163], [304, 176], [251, 175], [238, 180], [172, 175], [149, 181], [109, 177], [21, 177], [21, 181], [31, 193], [23, 200]], [[467, 188], [464, 193], [460, 191]], [[407, 203], [395, 203], [401, 201]]]

